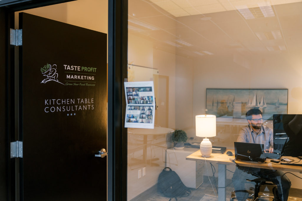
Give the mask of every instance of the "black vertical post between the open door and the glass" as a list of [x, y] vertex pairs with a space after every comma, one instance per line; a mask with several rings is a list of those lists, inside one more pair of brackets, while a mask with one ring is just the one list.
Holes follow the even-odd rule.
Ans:
[[108, 200], [127, 200], [124, 81], [127, 81], [128, 0], [109, 0], [108, 15], [108, 153], [112, 153], [108, 157]]

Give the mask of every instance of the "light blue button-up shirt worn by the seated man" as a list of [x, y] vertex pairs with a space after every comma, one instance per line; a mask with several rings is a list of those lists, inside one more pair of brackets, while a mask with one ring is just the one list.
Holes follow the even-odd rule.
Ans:
[[267, 126], [262, 126], [260, 132], [255, 133], [250, 125], [241, 128], [237, 142], [264, 144], [264, 149], [274, 147], [273, 130]]

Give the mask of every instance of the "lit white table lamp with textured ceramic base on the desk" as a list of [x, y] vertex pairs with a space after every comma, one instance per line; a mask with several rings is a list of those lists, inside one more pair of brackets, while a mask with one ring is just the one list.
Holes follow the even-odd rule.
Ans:
[[196, 136], [205, 137], [200, 143], [200, 152], [202, 157], [210, 157], [212, 153], [212, 143], [207, 137], [216, 136], [216, 116], [215, 115], [197, 115]]

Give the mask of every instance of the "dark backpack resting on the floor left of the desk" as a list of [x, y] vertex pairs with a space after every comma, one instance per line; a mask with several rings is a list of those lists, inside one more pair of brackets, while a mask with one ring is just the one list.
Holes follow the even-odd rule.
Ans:
[[166, 168], [164, 168], [159, 174], [157, 191], [165, 197], [170, 197], [170, 200], [172, 198], [177, 200], [177, 197], [185, 197], [191, 193], [191, 190], [182, 183], [178, 174], [172, 171], [171, 168], [169, 168], [169, 171], [166, 171]]

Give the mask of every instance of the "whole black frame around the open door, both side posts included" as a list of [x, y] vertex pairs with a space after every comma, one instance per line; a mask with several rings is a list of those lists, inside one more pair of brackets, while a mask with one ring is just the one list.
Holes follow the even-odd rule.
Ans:
[[[15, 189], [18, 160], [10, 159], [9, 154], [10, 142], [18, 140], [18, 137], [15, 139], [14, 115], [10, 112], [15, 107], [10, 104], [11, 97], [14, 97], [15, 82], [11, 80], [14, 77], [14, 72], [11, 72], [14, 58], [11, 54], [13, 48], [9, 45], [9, 27], [14, 23], [14, 12], [69, 1], [73, 0], [3, 0], [0, 3], [0, 25], [6, 27], [1, 30], [5, 34], [0, 37], [0, 52], [5, 52], [0, 56], [0, 64], [5, 67], [0, 70], [4, 73], [0, 92], [5, 97], [0, 102], [0, 111], [5, 111], [5, 118], [0, 119], [0, 128], [2, 133], [6, 133], [4, 138], [0, 138], [0, 143], [5, 144], [5, 155], [0, 155], [1, 161], [5, 161], [0, 166], [1, 177], [5, 181], [0, 181], [0, 187], [4, 183], [6, 186], [6, 193], [0, 194], [1, 200], [15, 200], [18, 191]], [[108, 1], [108, 200], [127, 199], [127, 130], [124, 128], [126, 102], [123, 98], [123, 86], [127, 78], [127, 15], [127, 0]]]

